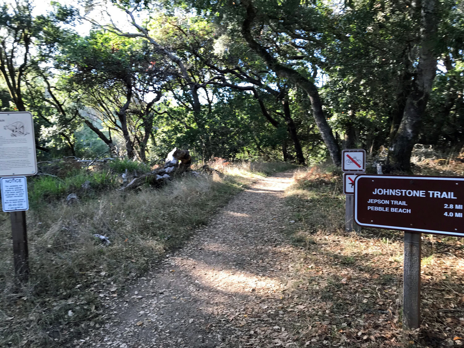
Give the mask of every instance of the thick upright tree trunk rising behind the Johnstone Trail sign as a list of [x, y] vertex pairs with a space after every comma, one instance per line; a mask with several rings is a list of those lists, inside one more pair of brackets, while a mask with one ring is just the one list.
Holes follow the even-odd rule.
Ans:
[[421, 47], [417, 74], [412, 82], [412, 90], [406, 100], [406, 106], [400, 127], [390, 147], [390, 165], [392, 168], [411, 172], [411, 152], [419, 135], [422, 117], [432, 90], [437, 70], [437, 0], [423, 0], [421, 3]]

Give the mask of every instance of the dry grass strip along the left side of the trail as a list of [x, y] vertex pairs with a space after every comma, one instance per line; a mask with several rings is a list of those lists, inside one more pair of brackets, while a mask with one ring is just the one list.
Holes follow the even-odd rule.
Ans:
[[[104, 325], [99, 299], [118, 296], [195, 226], [260, 177], [245, 167], [226, 176], [174, 181], [155, 190], [107, 191], [68, 206], [43, 203], [27, 212], [31, 277], [18, 286], [12, 270], [11, 230], [0, 221], [0, 347], [53, 347], [84, 322]], [[93, 234], [110, 239], [102, 244]]]

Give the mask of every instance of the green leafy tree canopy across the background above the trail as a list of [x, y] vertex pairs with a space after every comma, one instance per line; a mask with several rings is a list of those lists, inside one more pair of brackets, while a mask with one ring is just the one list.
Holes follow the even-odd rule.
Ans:
[[[11, 84], [0, 85], [0, 108], [12, 103], [32, 112], [37, 143], [48, 150], [41, 155], [91, 157], [107, 148], [111, 155], [154, 162], [177, 146], [203, 161], [216, 156], [294, 160], [293, 123], [304, 160], [312, 165], [328, 158], [307, 91], [287, 75], [277, 75], [240, 35], [244, 3], [113, 3], [121, 13], [134, 9], [146, 35], [134, 27], [134, 34], [122, 36], [116, 22], [81, 35], [73, 27], [79, 9], [56, 1], [48, 13], [32, 12], [27, 2], [1, 7], [2, 50], [14, 52], [14, 44], [30, 54], [23, 65], [19, 56], [12, 58], [21, 96]], [[421, 17], [415, 5], [389, 0], [251, 3], [256, 11], [251, 35], [279, 64], [318, 89], [339, 147], [367, 148], [373, 155], [388, 148], [419, 59], [414, 45]], [[435, 50], [443, 66], [419, 142], [458, 148], [464, 141], [462, 1], [440, 4], [443, 39]], [[85, 6], [86, 13], [94, 8]], [[284, 100], [290, 120], [284, 118]]]

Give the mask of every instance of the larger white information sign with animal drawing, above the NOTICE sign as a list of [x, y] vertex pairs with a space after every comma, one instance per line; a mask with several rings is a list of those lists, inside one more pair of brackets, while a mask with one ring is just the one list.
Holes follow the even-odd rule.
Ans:
[[37, 173], [30, 112], [0, 112], [0, 176]]

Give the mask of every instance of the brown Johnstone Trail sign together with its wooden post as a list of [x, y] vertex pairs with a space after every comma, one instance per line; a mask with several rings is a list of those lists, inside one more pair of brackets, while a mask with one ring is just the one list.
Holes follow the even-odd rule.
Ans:
[[403, 320], [420, 322], [421, 232], [464, 237], [464, 178], [366, 175], [354, 179], [354, 220], [360, 226], [405, 231]]

